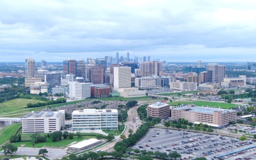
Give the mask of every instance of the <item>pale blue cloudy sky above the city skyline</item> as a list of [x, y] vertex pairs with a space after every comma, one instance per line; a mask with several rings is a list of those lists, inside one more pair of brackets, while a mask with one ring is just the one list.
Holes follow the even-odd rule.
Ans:
[[256, 61], [255, 0], [0, 1], [0, 61]]

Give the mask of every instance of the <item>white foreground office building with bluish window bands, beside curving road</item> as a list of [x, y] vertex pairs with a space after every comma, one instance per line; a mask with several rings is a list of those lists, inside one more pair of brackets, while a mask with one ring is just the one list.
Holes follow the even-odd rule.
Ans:
[[83, 130], [117, 130], [117, 109], [84, 109], [72, 113], [72, 129]]

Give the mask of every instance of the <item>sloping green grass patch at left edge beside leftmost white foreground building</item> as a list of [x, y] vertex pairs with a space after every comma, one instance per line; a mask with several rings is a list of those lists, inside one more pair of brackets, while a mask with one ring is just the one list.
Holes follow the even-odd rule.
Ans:
[[0, 130], [0, 145], [9, 141], [10, 137], [19, 129], [21, 123], [12, 124], [6, 126], [3, 130]]

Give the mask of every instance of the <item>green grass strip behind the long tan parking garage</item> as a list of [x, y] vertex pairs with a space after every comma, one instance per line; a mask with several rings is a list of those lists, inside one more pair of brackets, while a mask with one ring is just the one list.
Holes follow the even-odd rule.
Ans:
[[178, 105], [178, 103], [181, 103], [183, 105], [188, 105], [189, 103], [194, 103], [196, 106], [209, 106], [209, 107], [220, 107], [229, 109], [232, 107], [235, 107], [237, 105], [231, 104], [231, 103], [219, 103], [219, 102], [209, 102], [209, 101], [174, 101], [174, 102], [167, 102], [170, 106]]

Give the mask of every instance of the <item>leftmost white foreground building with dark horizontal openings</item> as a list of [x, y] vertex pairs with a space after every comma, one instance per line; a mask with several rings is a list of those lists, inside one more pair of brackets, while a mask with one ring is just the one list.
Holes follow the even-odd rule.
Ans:
[[22, 133], [52, 133], [65, 126], [65, 110], [31, 112], [22, 118]]

